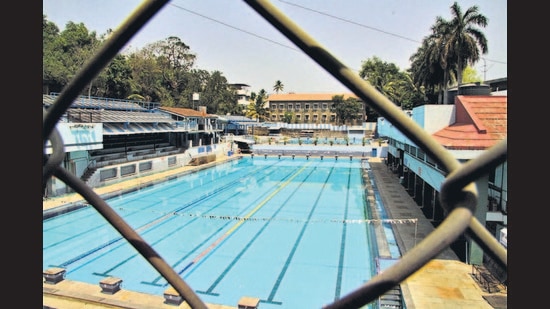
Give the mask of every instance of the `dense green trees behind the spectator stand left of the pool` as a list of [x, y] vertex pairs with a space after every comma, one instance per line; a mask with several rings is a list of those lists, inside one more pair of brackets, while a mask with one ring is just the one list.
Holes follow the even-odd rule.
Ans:
[[[43, 15], [43, 81], [49, 91], [61, 92], [111, 32], [97, 36], [84, 24], [73, 22], [60, 31]], [[195, 59], [187, 44], [168, 37], [117, 55], [82, 94], [191, 108], [192, 94], [197, 92], [201, 94], [198, 103], [207, 106], [208, 113], [242, 114], [226, 78], [218, 71], [194, 69]]]

